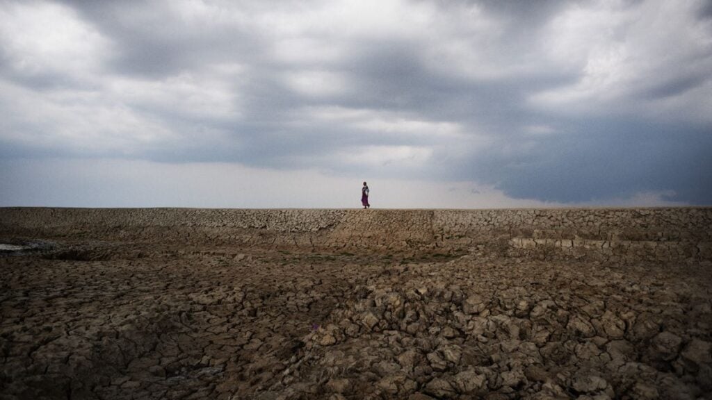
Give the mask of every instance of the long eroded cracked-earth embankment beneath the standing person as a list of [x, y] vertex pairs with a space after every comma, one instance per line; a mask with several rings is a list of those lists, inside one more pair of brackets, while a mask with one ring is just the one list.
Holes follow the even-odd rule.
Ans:
[[0, 209], [0, 233], [310, 251], [480, 251], [615, 263], [712, 259], [712, 208]]

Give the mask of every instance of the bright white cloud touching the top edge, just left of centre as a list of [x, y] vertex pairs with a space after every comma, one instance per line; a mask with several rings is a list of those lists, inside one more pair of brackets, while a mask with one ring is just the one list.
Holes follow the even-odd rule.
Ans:
[[276, 61], [293, 66], [347, 66], [372, 43], [418, 43], [436, 33], [437, 9], [427, 1], [313, 1], [261, 11], [253, 27], [268, 38]]

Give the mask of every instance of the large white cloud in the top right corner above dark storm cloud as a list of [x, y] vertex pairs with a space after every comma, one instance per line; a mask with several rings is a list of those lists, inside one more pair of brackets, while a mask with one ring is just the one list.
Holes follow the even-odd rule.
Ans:
[[570, 6], [547, 27], [545, 49], [557, 68], [577, 70], [580, 79], [534, 93], [530, 104], [562, 114], [712, 121], [712, 104], [704, 100], [712, 97], [712, 21], [697, 19], [698, 6], [696, 1]]

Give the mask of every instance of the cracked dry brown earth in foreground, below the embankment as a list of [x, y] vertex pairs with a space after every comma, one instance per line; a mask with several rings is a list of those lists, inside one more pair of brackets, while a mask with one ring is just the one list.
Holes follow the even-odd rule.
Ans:
[[712, 399], [708, 262], [63, 246], [0, 258], [1, 399]]

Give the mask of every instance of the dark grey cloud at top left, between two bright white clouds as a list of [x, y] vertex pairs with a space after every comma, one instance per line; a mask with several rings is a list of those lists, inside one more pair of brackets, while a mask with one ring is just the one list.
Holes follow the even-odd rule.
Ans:
[[164, 78], [211, 63], [248, 60], [263, 46], [248, 26], [190, 26], [160, 1], [65, 3], [112, 39], [115, 73]]

